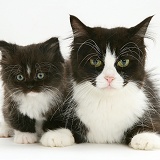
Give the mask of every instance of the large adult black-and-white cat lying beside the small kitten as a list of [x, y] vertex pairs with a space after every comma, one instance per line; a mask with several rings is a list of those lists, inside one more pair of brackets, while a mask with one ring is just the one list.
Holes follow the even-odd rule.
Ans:
[[74, 137], [76, 143], [125, 143], [144, 150], [160, 147], [159, 97], [145, 71], [144, 38], [151, 19], [131, 28], [107, 29], [90, 28], [70, 17], [72, 85], [63, 120], [59, 116], [48, 124], [43, 145], [71, 145]]

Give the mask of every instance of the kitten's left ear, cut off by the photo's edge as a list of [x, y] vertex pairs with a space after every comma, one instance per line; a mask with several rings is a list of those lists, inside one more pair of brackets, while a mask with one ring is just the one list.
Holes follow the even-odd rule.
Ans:
[[0, 51], [2, 62], [7, 61], [15, 52], [16, 45], [7, 43], [6, 41], [0, 41]]

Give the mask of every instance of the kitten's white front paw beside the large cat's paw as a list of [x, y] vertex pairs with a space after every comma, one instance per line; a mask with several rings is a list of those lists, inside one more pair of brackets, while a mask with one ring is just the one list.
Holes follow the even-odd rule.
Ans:
[[37, 142], [37, 134], [15, 130], [14, 142], [20, 144], [35, 143]]

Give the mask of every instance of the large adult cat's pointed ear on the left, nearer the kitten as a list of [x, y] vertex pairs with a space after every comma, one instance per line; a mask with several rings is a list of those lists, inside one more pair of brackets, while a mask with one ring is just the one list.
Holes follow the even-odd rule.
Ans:
[[70, 23], [75, 36], [84, 36], [87, 35], [88, 28], [84, 25], [77, 17], [70, 15]]

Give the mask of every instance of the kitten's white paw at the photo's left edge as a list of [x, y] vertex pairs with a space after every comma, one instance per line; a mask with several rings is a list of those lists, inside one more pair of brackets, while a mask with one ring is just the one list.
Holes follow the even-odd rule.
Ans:
[[7, 124], [0, 125], [0, 138], [7, 138], [13, 136], [13, 129]]

